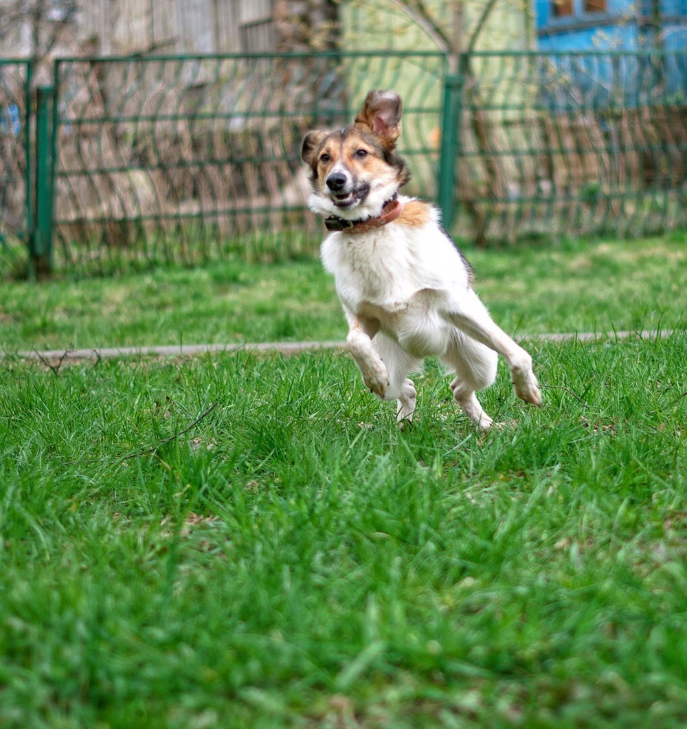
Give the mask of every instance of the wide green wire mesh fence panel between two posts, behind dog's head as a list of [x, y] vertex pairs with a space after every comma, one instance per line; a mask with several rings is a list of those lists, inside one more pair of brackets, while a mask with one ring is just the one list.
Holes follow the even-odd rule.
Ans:
[[75, 265], [193, 263], [236, 245], [293, 254], [319, 230], [306, 214], [303, 136], [350, 123], [369, 87], [399, 79], [412, 79], [403, 151], [417, 190], [433, 195], [443, 64], [437, 54], [58, 61], [55, 255]]

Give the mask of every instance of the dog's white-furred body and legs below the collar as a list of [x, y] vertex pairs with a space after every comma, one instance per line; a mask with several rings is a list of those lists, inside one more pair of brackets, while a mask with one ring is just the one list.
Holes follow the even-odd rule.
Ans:
[[[317, 192], [310, 203], [320, 212], [327, 207]], [[455, 372], [451, 389], [458, 405], [487, 430], [492, 419], [475, 392], [493, 383], [497, 353], [509, 364], [518, 397], [541, 405], [532, 359], [492, 321], [436, 208], [428, 208], [430, 220], [420, 227], [394, 221], [366, 233], [331, 233], [322, 243], [322, 261], [334, 274], [348, 347], [364, 383], [378, 397], [398, 401], [399, 422], [412, 421], [415, 410], [407, 375], [433, 354]], [[377, 214], [379, 209], [377, 200]]]

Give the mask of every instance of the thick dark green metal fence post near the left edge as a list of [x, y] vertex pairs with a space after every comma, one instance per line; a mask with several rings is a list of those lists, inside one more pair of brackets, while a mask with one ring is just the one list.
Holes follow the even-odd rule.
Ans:
[[29, 273], [32, 278], [46, 276], [52, 270], [52, 98], [52, 86], [36, 88], [36, 194], [29, 237]]

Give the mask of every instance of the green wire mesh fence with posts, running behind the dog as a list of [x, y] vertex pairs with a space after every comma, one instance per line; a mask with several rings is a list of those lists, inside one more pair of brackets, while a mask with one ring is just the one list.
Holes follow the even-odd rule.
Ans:
[[29, 114], [28, 63], [1, 63], [0, 251], [81, 273], [312, 254], [302, 136], [350, 123], [372, 88], [404, 98], [409, 192], [460, 238], [687, 227], [687, 53], [458, 70], [436, 52], [64, 58]]

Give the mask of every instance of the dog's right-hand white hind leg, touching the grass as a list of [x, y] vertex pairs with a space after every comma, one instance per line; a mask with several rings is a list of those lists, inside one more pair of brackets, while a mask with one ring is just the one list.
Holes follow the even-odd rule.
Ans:
[[492, 419], [484, 412], [475, 392], [489, 387], [496, 378], [498, 355], [484, 344], [455, 332], [441, 362], [455, 371], [451, 391], [460, 409], [482, 430], [489, 430]]

